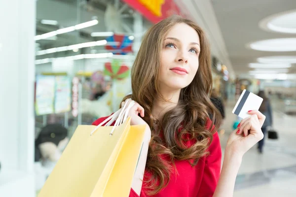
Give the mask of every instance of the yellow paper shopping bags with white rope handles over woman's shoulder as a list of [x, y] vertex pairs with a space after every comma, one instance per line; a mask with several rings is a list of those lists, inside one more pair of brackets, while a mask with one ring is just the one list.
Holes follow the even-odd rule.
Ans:
[[38, 197], [128, 197], [146, 126], [78, 126]]

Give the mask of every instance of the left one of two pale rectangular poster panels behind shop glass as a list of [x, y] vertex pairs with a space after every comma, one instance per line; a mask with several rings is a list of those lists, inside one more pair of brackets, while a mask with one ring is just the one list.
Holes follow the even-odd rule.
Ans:
[[54, 113], [55, 98], [55, 77], [54, 76], [36, 76], [36, 115], [45, 115]]

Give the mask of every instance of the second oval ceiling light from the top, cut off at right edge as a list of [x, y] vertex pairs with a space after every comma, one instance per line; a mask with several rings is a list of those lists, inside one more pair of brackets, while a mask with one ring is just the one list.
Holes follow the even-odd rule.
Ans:
[[296, 37], [260, 40], [247, 47], [258, 51], [296, 51]]

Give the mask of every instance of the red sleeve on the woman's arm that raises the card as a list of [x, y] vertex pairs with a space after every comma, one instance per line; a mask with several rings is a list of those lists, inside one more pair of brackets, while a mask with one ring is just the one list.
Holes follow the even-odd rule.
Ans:
[[222, 149], [218, 132], [213, 135], [209, 147], [210, 155], [206, 158], [204, 174], [202, 177], [198, 197], [213, 197], [221, 172]]

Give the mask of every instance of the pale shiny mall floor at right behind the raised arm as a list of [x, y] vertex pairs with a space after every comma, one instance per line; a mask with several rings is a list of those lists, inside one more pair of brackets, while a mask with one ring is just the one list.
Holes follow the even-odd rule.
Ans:
[[[220, 132], [222, 149], [236, 116], [231, 113], [235, 103], [226, 106], [226, 120]], [[280, 101], [273, 105], [274, 128], [278, 140], [265, 140], [264, 152], [256, 147], [243, 158], [236, 179], [234, 197], [296, 197], [296, 116], [287, 116]]]

